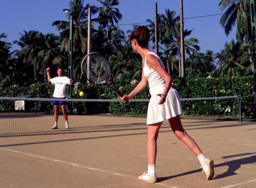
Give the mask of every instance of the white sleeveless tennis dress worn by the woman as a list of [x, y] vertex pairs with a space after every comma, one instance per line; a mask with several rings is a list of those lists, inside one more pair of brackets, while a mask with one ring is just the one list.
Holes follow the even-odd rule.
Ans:
[[[154, 52], [149, 52], [147, 55], [152, 54], [159, 59], [159, 62], [164, 67], [163, 61]], [[166, 119], [178, 116], [182, 114], [182, 107], [180, 102], [180, 96], [177, 90], [170, 88], [167, 93], [166, 100], [164, 104], [158, 105], [161, 97], [158, 94], [163, 93], [165, 88], [165, 80], [162, 76], [157, 73], [154, 69], [147, 66], [147, 55], [143, 63], [144, 75], [149, 83], [149, 92], [151, 98], [148, 104], [148, 115], [147, 115], [147, 125], [163, 122]]]

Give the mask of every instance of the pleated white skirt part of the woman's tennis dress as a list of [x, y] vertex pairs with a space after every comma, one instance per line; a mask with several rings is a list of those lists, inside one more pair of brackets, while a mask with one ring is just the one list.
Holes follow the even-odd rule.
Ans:
[[147, 125], [163, 122], [166, 119], [182, 114], [180, 96], [177, 90], [170, 88], [164, 104], [158, 105], [161, 97], [157, 94], [163, 93], [164, 87], [150, 89], [151, 98], [148, 104]]

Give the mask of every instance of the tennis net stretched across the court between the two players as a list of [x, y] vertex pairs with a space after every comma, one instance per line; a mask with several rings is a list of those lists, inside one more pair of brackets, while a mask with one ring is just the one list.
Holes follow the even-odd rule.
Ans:
[[[192, 106], [199, 104], [226, 106], [238, 110], [238, 96], [181, 99]], [[58, 129], [52, 130], [54, 109], [52, 101], [61, 100], [71, 107], [68, 114], [69, 129], [59, 111]], [[205, 102], [207, 101], [207, 102]], [[79, 133], [95, 131], [121, 131], [146, 129], [146, 113], [149, 99], [132, 99], [124, 104], [118, 99], [50, 99], [25, 97], [0, 97], [0, 137], [40, 134]], [[186, 112], [187, 107], [183, 107]], [[222, 106], [222, 108], [226, 108]], [[204, 109], [202, 109], [204, 110]], [[169, 127], [164, 122], [162, 127]]]

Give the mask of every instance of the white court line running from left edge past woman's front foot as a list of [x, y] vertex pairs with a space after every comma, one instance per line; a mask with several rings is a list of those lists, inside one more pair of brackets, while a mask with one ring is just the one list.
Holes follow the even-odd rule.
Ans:
[[[53, 161], [53, 162], [57, 162], [57, 163], [62, 163], [62, 164], [65, 164], [65, 165], [71, 165], [71, 166], [75, 166], [75, 167], [79, 167], [79, 168], [85, 168], [85, 169], [95, 170], [95, 171], [99, 171], [99, 172], [106, 173], [106, 174], [112, 174], [112, 175], [116, 175], [116, 176], [122, 176], [122, 177], [134, 179], [134, 177], [132, 177], [132, 176], [124, 175], [124, 174], [119, 174], [119, 173], [113, 172], [113, 171], [111, 171], [111, 170], [105, 170], [105, 169], [87, 167], [87, 166], [83, 166], [83, 165], [79, 165], [79, 164], [75, 164], [75, 163], [69, 163], [69, 162], [63, 161], [63, 160], [57, 160], [57, 159], [53, 159], [53, 158], [47, 158], [47, 157], [37, 156], [37, 155], [33, 155], [33, 154], [29, 154], [29, 153], [25, 153], [25, 152], [21, 152], [21, 151], [17, 151], [17, 150], [12, 150], [12, 149], [6, 149], [6, 148], [0, 148], [0, 149], [1, 149], [1, 150], [5, 150], [5, 151], [14, 152], [14, 153], [19, 153], [19, 154], [21, 154], [21, 155], [25, 155], [25, 156], [29, 156], [29, 157], [44, 159], [44, 160], [48, 160], [48, 161]], [[162, 186], [165, 186], [165, 187], [179, 188], [179, 187], [175, 187], [175, 186], [168, 186], [168, 185], [165, 185], [165, 184], [162, 184], [162, 183], [156, 183], [156, 184], [162, 185]]]

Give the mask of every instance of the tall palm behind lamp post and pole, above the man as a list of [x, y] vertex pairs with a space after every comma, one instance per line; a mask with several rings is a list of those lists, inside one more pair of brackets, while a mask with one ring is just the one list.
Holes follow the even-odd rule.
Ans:
[[[86, 4], [83, 6], [84, 1], [74, 0], [70, 1], [70, 10], [68, 18], [72, 16], [73, 18], [73, 76], [75, 80], [81, 79], [81, 69], [80, 63], [87, 53], [87, 25], [88, 25], [88, 8], [91, 9], [91, 14], [98, 12], [98, 8]], [[94, 25], [95, 20], [92, 19], [92, 26]], [[60, 51], [62, 53], [69, 52], [69, 30], [70, 23], [69, 21], [54, 21], [52, 25], [57, 27], [57, 30], [60, 31]], [[98, 49], [98, 40], [99, 32], [92, 28], [92, 48]]]

